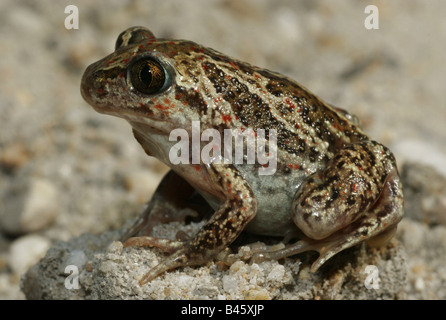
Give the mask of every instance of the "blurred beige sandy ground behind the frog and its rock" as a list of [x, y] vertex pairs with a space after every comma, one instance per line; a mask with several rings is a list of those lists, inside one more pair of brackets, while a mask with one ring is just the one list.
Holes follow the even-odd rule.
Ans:
[[[69, 4], [79, 8], [77, 30], [64, 27]], [[125, 121], [97, 114], [79, 93], [86, 66], [110, 53], [121, 31], [144, 25], [296, 79], [356, 114], [400, 168], [411, 164], [409, 215], [397, 235], [407, 277], [391, 298], [445, 299], [446, 3], [367, 4], [379, 8], [378, 30], [364, 27], [366, 4], [356, 1], [2, 1], [0, 298], [24, 299], [21, 274], [57, 241], [122, 227], [166, 172]], [[120, 255], [108, 250], [104, 259]], [[277, 268], [273, 275], [291, 281]], [[259, 297], [297, 298], [281, 294]]]

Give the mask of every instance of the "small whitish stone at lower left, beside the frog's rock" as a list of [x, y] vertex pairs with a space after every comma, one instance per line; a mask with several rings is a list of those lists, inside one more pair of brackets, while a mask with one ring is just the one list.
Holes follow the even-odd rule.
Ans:
[[25, 273], [45, 256], [50, 241], [38, 235], [27, 235], [15, 240], [9, 248], [8, 264], [16, 274]]

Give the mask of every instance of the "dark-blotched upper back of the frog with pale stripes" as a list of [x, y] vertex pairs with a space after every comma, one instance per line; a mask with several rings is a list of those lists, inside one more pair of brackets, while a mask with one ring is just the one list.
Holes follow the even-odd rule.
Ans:
[[344, 114], [286, 76], [190, 41], [174, 45], [180, 48], [177, 71], [200, 87], [201, 100], [217, 104], [198, 104], [202, 120], [213, 119], [204, 123], [216, 127], [223, 118], [227, 128], [275, 129], [279, 149], [310, 161], [326, 161], [342, 144], [367, 139]]

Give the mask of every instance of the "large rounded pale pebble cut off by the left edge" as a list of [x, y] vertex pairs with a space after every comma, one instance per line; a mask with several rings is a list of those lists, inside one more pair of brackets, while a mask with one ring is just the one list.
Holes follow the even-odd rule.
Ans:
[[18, 182], [5, 193], [0, 208], [0, 229], [10, 235], [42, 230], [58, 213], [58, 191], [48, 180], [30, 178]]

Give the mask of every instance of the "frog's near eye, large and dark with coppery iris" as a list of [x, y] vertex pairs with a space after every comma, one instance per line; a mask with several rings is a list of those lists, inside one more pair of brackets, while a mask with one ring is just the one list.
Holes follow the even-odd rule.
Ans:
[[153, 58], [136, 60], [129, 68], [133, 87], [144, 94], [157, 94], [168, 87], [168, 77], [164, 67]]

